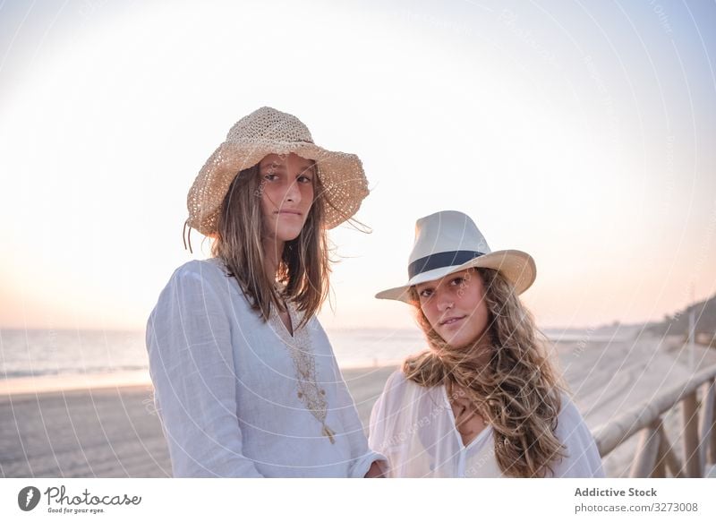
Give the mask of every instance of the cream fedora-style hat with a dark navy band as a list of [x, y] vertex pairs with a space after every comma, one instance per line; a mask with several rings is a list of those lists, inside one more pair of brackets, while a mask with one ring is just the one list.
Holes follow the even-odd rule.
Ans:
[[498, 270], [518, 294], [537, 277], [532, 256], [519, 250], [492, 252], [473, 220], [455, 210], [420, 218], [415, 223], [415, 243], [408, 260], [408, 282], [376, 294], [379, 299], [411, 303], [410, 287], [469, 268]]

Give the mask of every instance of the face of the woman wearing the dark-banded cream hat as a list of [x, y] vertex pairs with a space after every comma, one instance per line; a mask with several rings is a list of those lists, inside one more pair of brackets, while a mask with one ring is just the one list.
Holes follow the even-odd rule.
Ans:
[[461, 348], [480, 338], [490, 313], [485, 289], [477, 270], [455, 272], [445, 278], [415, 286], [422, 313], [451, 347]]

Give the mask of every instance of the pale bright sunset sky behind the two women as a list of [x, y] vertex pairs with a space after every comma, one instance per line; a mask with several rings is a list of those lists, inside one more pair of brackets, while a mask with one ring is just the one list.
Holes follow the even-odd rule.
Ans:
[[142, 329], [186, 193], [258, 107], [357, 154], [328, 328], [410, 328], [417, 218], [530, 252], [542, 327], [716, 293], [714, 2], [0, 2], [0, 328]]

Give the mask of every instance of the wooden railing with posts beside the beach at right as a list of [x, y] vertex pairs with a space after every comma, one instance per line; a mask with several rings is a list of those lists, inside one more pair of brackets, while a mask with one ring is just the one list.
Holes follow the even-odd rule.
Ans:
[[[619, 444], [641, 432], [630, 476], [703, 477], [707, 466], [716, 463], [714, 388], [716, 365], [618, 415], [594, 432], [601, 457], [606, 457]], [[683, 423], [683, 462], [677, 457], [662, 423], [662, 415], [679, 403]]]

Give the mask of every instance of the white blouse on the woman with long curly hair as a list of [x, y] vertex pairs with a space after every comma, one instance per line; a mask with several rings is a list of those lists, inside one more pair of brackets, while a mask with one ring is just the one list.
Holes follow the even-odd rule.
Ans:
[[[556, 435], [567, 457], [552, 466], [555, 476], [604, 476], [592, 433], [564, 394]], [[502, 476], [492, 428], [465, 447], [445, 386], [422, 387], [399, 370], [373, 406], [369, 445], [388, 458], [390, 477]]]

